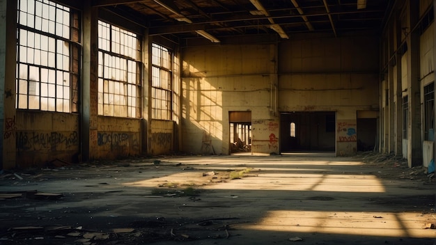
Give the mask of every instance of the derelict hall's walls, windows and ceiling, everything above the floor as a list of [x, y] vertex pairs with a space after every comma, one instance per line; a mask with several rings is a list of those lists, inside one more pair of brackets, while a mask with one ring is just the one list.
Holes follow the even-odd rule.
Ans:
[[435, 151], [433, 1], [1, 1], [2, 168]]

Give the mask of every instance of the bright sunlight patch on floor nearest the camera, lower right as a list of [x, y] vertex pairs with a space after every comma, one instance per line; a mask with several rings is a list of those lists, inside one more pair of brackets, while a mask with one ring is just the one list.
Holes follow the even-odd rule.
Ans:
[[412, 212], [322, 212], [269, 211], [256, 224], [241, 224], [240, 228], [281, 232], [319, 232], [343, 235], [382, 237], [435, 237], [435, 230], [425, 229]]

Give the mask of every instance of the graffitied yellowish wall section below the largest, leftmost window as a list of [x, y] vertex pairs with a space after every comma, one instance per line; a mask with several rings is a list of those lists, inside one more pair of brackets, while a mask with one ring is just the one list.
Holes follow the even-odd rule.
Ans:
[[61, 159], [79, 161], [79, 116], [70, 113], [17, 111], [14, 122], [17, 166]]

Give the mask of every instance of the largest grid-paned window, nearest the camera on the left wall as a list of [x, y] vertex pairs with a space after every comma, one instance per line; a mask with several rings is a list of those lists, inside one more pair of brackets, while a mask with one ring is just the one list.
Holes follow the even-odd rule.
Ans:
[[17, 0], [17, 109], [79, 111], [80, 16], [48, 0]]

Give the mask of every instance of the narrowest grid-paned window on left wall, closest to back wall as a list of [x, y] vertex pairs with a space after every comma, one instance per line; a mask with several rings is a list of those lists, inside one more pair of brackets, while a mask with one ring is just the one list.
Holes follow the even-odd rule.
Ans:
[[153, 43], [151, 48], [151, 116], [154, 119], [171, 120], [173, 100], [172, 53]]

